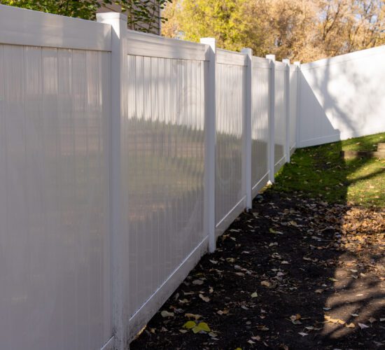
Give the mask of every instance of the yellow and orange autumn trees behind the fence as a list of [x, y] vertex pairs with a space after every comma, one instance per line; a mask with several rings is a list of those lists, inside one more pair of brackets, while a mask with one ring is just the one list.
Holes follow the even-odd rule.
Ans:
[[162, 34], [309, 62], [385, 43], [385, 0], [173, 0]]

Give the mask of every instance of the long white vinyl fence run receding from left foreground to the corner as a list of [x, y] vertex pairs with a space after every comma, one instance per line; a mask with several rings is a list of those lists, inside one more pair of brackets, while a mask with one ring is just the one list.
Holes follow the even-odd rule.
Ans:
[[1, 349], [126, 349], [314, 137], [302, 80], [117, 13], [0, 6]]

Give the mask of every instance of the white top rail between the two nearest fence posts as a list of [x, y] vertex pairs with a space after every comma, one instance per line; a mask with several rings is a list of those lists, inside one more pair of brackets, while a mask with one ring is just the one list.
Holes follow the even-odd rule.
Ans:
[[127, 30], [127, 53], [135, 56], [208, 61], [209, 45]]

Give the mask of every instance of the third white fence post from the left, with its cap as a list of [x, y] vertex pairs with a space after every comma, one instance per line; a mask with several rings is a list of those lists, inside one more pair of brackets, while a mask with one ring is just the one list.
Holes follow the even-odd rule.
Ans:
[[246, 171], [246, 209], [253, 207], [253, 197], [251, 193], [251, 118], [253, 111], [253, 50], [251, 48], [244, 48], [241, 50], [242, 53], [247, 55], [247, 72], [246, 72], [246, 96], [245, 96], [245, 118], [244, 118], [244, 135], [245, 135], [245, 171]]

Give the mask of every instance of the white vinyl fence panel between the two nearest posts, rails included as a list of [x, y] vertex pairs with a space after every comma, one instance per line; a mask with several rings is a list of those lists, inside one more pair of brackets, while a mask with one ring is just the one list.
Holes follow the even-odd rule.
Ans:
[[127, 48], [122, 179], [128, 208], [123, 220], [130, 234], [130, 332], [135, 335], [207, 250], [203, 208], [208, 62], [206, 45], [132, 31]]

